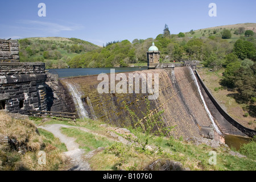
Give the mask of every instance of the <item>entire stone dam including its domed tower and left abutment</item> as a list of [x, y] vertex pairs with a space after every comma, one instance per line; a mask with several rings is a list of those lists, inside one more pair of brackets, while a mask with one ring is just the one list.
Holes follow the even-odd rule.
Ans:
[[[80, 118], [125, 127], [134, 126], [126, 106], [143, 119], [147, 112], [146, 100], [149, 100], [150, 113], [163, 111], [164, 126], [175, 126], [169, 134], [175, 138], [201, 136], [223, 142], [224, 135], [254, 137], [256, 134], [221, 108], [193, 63], [177, 67], [156, 64], [160, 52], [155, 47], [148, 51], [148, 59], [152, 61], [148, 63], [153, 69], [122, 73], [122, 81], [119, 77], [122, 84], [111, 82], [112, 76], [117, 80], [119, 73], [106, 74], [108, 79], [102, 84], [98, 75], [59, 78], [47, 72], [44, 63], [20, 63], [18, 43], [14, 40], [0, 40], [0, 43], [3, 45], [0, 52], [0, 109], [11, 113], [29, 114], [30, 110], [76, 112]], [[139, 92], [136, 92], [134, 82], [131, 82], [135, 79], [130, 75], [141, 76]], [[151, 77], [143, 80], [142, 75]], [[99, 92], [98, 85], [101, 84], [106, 92]], [[143, 91], [143, 85], [147, 92]], [[148, 92], [150, 87], [154, 92]], [[129, 92], [118, 92], [116, 88]], [[155, 99], [151, 100], [154, 94]]]

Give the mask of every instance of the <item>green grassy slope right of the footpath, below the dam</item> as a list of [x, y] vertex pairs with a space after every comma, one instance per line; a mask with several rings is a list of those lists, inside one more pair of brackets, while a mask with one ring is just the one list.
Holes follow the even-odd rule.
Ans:
[[[87, 129], [97, 131], [98, 133], [104, 133], [105, 127], [100, 127], [102, 122], [91, 121], [90, 119], [80, 120], [77, 122], [64, 122], [52, 119], [42, 123], [41, 125], [48, 125], [51, 123], [62, 123], [71, 126], [82, 126]], [[137, 137], [143, 137], [144, 134], [139, 134], [138, 130], [128, 128], [131, 133]], [[44, 142], [51, 144], [52, 141], [56, 141], [51, 133], [44, 130], [39, 130], [40, 134], [44, 136]], [[143, 170], [148, 164], [157, 159], [168, 159], [183, 164], [184, 168], [190, 170], [215, 170], [215, 171], [255, 171], [256, 162], [254, 144], [243, 147], [241, 151], [243, 155], [247, 155], [247, 158], [238, 158], [229, 154], [228, 147], [212, 148], [205, 144], [195, 146], [190, 142], [185, 142], [183, 139], [174, 138], [150, 138], [150, 145], [153, 150], [143, 150], [138, 146], [128, 146], [122, 143], [115, 143], [105, 137], [100, 137], [91, 133], [84, 132], [75, 128], [61, 128], [61, 133], [68, 137], [76, 138], [76, 142], [80, 148], [86, 152], [96, 150], [98, 147], [105, 147], [105, 150], [98, 152], [90, 159], [90, 166], [94, 170]], [[106, 133], [106, 132], [105, 132]], [[60, 148], [61, 151], [65, 151], [65, 147], [62, 144], [53, 144], [53, 146]], [[62, 148], [62, 149], [61, 149]], [[217, 156], [217, 164], [209, 164], [210, 151], [215, 151]], [[251, 157], [251, 155], [253, 157]]]

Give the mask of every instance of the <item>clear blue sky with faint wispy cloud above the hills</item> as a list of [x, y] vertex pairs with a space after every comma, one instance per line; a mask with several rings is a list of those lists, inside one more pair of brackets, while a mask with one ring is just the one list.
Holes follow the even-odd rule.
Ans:
[[[46, 17], [38, 16], [39, 3]], [[216, 3], [217, 16], [208, 7]], [[31, 0], [0, 1], [0, 38], [59, 36], [102, 46], [114, 40], [156, 38], [237, 23], [256, 23], [255, 0]]]

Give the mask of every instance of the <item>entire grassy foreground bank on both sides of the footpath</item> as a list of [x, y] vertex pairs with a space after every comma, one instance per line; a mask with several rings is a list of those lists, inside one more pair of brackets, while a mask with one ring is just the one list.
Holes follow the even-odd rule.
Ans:
[[[5, 123], [13, 123], [8, 127], [8, 130], [0, 130], [1, 134], [10, 136], [12, 132], [16, 134], [16, 138], [19, 138], [19, 134], [11, 131], [11, 126], [24, 130], [23, 133], [30, 133], [30, 136], [36, 136], [37, 139], [28, 138], [30, 145], [33, 146], [34, 142], [40, 140], [39, 148], [35, 150], [28, 150], [24, 154], [19, 154], [18, 151], [10, 148], [9, 146], [1, 145], [1, 170], [61, 170], [65, 169], [66, 161], [61, 157], [61, 153], [67, 151], [67, 148], [63, 143], [56, 139], [51, 133], [46, 130], [39, 129], [40, 135], [36, 134], [31, 129], [35, 129], [35, 126], [51, 125], [52, 123], [61, 123], [69, 126], [76, 126], [75, 128], [61, 128], [61, 133], [68, 137], [76, 138], [76, 142], [80, 148], [87, 152], [97, 150], [99, 147], [104, 147], [103, 150], [95, 152], [92, 158], [88, 159], [90, 167], [93, 170], [149, 170], [149, 164], [158, 161], [158, 164], [154, 166], [154, 170], [158, 170], [166, 163], [175, 161], [175, 165], [178, 165], [179, 169], [186, 170], [256, 170], [255, 162], [255, 142], [249, 146], [245, 146], [240, 151], [247, 158], [237, 156], [236, 152], [231, 154], [230, 148], [226, 146], [210, 147], [206, 144], [200, 144], [196, 146], [193, 142], [188, 142], [180, 138], [176, 140], [174, 138], [163, 137], [150, 137], [148, 140], [148, 146], [142, 148], [140, 142], [145, 139], [143, 133], [137, 129], [130, 129], [131, 134], [134, 134], [138, 138], [127, 137], [126, 139], [131, 144], [123, 144], [121, 142], [114, 141], [109, 135], [109, 126], [102, 126], [101, 121], [92, 121], [90, 119], [77, 119], [76, 122], [57, 121], [55, 119], [48, 119], [46, 122], [42, 122], [41, 119], [29, 120], [30, 125], [26, 124], [24, 119], [12, 119], [7, 117], [5, 113], [1, 113], [1, 116], [7, 118]], [[21, 125], [18, 125], [20, 123]], [[6, 125], [6, 124], [5, 124]], [[5, 126], [1, 123], [1, 127]], [[28, 129], [22, 129], [22, 127], [28, 126]], [[30, 131], [28, 131], [30, 130]], [[85, 131], [86, 130], [86, 131]], [[8, 133], [4, 133], [8, 131]], [[25, 132], [26, 131], [26, 132]], [[34, 131], [34, 130], [33, 130]], [[124, 137], [123, 134], [118, 134], [120, 137]], [[117, 140], [117, 139], [116, 139]], [[46, 152], [47, 165], [38, 164], [38, 151], [42, 150]], [[211, 156], [216, 154], [216, 164], [210, 164]], [[234, 156], [234, 154], [236, 154]]]

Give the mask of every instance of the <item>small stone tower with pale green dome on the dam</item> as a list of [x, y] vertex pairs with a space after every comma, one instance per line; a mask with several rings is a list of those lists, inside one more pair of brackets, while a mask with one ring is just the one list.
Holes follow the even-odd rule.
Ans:
[[160, 51], [155, 46], [155, 43], [152, 43], [152, 46], [148, 48], [147, 51], [147, 67], [148, 68], [155, 68], [156, 65], [159, 64], [160, 59]]

